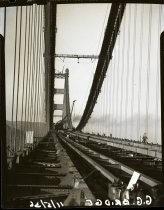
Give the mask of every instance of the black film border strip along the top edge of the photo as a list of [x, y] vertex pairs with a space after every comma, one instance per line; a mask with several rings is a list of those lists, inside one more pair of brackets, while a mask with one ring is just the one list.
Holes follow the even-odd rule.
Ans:
[[163, 0], [1, 0], [0, 7], [30, 6], [33, 4], [46, 5], [48, 2], [56, 4], [78, 3], [138, 3], [138, 4], [163, 4]]

